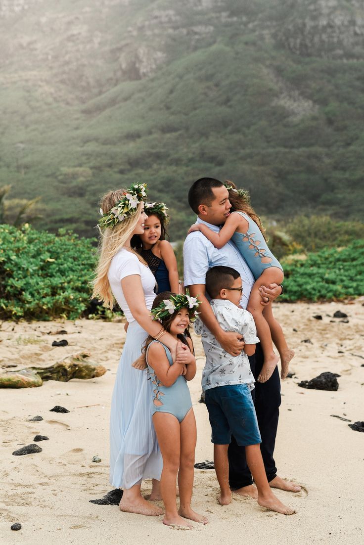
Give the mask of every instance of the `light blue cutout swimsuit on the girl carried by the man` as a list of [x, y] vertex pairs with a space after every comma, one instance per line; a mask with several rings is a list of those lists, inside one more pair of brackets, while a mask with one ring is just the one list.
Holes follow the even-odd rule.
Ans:
[[240, 214], [249, 224], [246, 233], [235, 231], [231, 240], [238, 248], [242, 257], [244, 257], [255, 280], [258, 280], [262, 272], [269, 267], [278, 267], [283, 271], [282, 265], [266, 245], [263, 234], [256, 222], [239, 210], [232, 212], [232, 214]]

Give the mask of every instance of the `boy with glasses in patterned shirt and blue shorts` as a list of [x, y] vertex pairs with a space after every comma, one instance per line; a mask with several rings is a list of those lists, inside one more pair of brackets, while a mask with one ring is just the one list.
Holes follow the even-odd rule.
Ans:
[[278, 513], [293, 514], [294, 511], [272, 493], [260, 453], [262, 440], [251, 396], [254, 378], [247, 358], [254, 354], [259, 339], [252, 315], [239, 307], [241, 277], [235, 269], [218, 265], [208, 270], [205, 286], [220, 327], [239, 333], [245, 342], [241, 353], [232, 356], [223, 350], [201, 320], [195, 322], [195, 331], [202, 337], [206, 355], [202, 388], [209, 411], [211, 441], [214, 443], [214, 464], [220, 485], [219, 503], [228, 505], [232, 497], [227, 451], [233, 434], [236, 443], [245, 446], [247, 464], [258, 489], [258, 504]]

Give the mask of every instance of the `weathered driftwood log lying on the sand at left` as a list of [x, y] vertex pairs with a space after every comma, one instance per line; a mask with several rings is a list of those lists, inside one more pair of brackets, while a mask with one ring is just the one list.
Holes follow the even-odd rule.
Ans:
[[28, 367], [19, 371], [0, 370], [0, 388], [35, 388], [44, 380], [68, 382], [72, 378], [88, 379], [106, 373], [102, 365], [87, 361], [90, 354], [81, 352], [50, 367]]

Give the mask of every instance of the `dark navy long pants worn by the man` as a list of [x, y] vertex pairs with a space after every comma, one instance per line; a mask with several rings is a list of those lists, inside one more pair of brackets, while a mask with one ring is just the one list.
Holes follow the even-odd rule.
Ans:
[[[268, 482], [270, 482], [277, 476], [273, 453], [280, 414], [279, 407], [281, 404], [280, 374], [277, 366], [269, 380], [265, 383], [257, 382], [257, 377], [263, 366], [263, 351], [260, 343], [257, 344], [256, 353], [253, 356], [249, 356], [249, 362], [254, 379], [256, 380], [252, 396], [256, 408], [260, 435], [262, 436], [260, 452], [262, 452], [266, 477]], [[230, 487], [236, 489], [251, 485], [253, 479], [246, 463], [245, 447], [239, 446], [233, 436], [228, 448], [228, 458]]]

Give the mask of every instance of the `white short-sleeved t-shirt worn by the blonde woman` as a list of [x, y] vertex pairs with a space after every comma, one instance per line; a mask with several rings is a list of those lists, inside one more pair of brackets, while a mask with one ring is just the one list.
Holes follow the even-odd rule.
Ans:
[[143, 265], [143, 263], [139, 261], [134, 253], [128, 252], [128, 250], [122, 248], [112, 258], [107, 272], [107, 277], [108, 281], [110, 282], [114, 298], [118, 301], [118, 304], [129, 323], [135, 322], [135, 318], [132, 316], [125, 300], [121, 281], [126, 276], [131, 276], [134, 274], [141, 277], [145, 297], [145, 306], [147, 306], [148, 310], [150, 310], [156, 296], [153, 291], [155, 287], [155, 277], [149, 267]]

